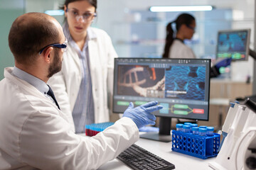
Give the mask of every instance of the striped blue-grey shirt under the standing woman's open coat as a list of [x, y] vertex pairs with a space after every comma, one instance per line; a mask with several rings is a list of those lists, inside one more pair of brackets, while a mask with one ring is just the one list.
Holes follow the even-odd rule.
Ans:
[[80, 58], [82, 81], [80, 84], [80, 89], [78, 92], [78, 97], [75, 101], [75, 106], [72, 112], [73, 120], [75, 123], [75, 132], [82, 133], [85, 132], [85, 125], [90, 125], [95, 123], [95, 113], [94, 113], [94, 103], [92, 96], [92, 81], [90, 76], [90, 57], [88, 50], [88, 41], [96, 38], [90, 28], [87, 30], [87, 38], [85, 41], [82, 51], [72, 39], [70, 32], [68, 30], [68, 24], [65, 23], [63, 26], [63, 32], [65, 37], [68, 39], [70, 46], [73, 47]]

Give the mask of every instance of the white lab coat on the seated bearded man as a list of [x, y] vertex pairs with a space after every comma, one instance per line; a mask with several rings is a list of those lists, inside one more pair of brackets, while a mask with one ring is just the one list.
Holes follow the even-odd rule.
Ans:
[[0, 81], [0, 169], [97, 169], [139, 139], [130, 118], [95, 137], [75, 135], [66, 115], [12, 71]]

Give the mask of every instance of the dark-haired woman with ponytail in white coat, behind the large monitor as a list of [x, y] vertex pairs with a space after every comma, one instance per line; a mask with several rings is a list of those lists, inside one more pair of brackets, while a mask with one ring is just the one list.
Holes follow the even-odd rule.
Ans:
[[[176, 25], [176, 36], [172, 25]], [[166, 26], [166, 44], [163, 58], [196, 58], [190, 47], [184, 44], [184, 40], [191, 40], [195, 33], [196, 20], [188, 13], [182, 13]]]

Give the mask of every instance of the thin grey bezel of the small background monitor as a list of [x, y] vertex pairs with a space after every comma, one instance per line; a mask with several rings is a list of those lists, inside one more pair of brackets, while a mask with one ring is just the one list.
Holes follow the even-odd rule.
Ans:
[[246, 41], [246, 52], [245, 52], [245, 59], [232, 59], [233, 62], [235, 61], [247, 61], [249, 58], [249, 52], [250, 52], [250, 28], [245, 28], [245, 29], [230, 29], [230, 30], [218, 30], [218, 35], [217, 35], [217, 45], [216, 45], [216, 50], [215, 50], [215, 57], [216, 60], [221, 59], [218, 57], [218, 42], [219, 42], [219, 35], [220, 33], [235, 33], [235, 32], [242, 32], [242, 31], [247, 31], [247, 41]]

